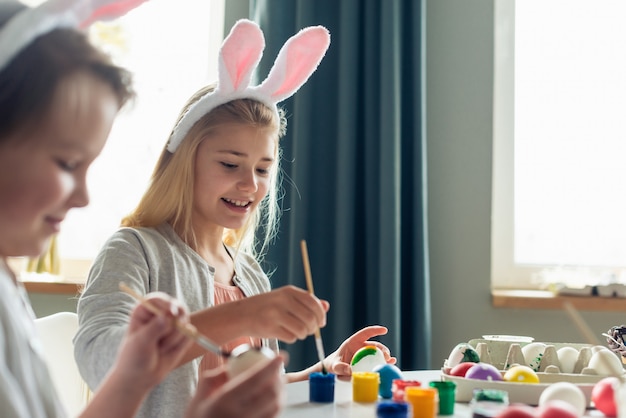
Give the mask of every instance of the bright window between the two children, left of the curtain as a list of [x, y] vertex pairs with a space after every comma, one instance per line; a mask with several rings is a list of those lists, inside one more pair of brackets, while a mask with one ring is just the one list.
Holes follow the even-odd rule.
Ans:
[[90, 168], [89, 206], [70, 211], [62, 226], [64, 278], [86, 277], [91, 259], [138, 203], [180, 109], [217, 78], [223, 21], [224, 0], [153, 0], [90, 29], [94, 42], [133, 72], [138, 97]]

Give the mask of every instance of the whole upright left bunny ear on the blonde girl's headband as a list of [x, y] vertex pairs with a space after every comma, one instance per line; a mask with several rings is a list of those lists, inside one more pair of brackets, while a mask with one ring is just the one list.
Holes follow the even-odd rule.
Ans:
[[245, 90], [264, 48], [261, 28], [249, 20], [239, 20], [220, 50], [217, 88], [224, 94]]

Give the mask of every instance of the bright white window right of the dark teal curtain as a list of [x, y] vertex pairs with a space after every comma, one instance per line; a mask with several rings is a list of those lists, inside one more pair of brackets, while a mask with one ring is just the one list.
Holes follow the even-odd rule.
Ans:
[[626, 283], [626, 3], [495, 7], [492, 286]]

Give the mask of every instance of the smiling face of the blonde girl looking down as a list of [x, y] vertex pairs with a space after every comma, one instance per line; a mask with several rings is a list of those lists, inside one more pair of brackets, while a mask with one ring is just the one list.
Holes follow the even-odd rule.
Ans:
[[196, 153], [194, 225], [243, 227], [268, 193], [276, 155], [272, 129], [235, 123], [215, 128]]

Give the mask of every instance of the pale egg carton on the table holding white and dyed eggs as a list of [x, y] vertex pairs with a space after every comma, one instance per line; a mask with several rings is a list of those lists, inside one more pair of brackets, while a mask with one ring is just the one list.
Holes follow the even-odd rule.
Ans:
[[[514, 364], [524, 364], [521, 348], [530, 344], [533, 339], [528, 337], [510, 338], [494, 338], [494, 336], [486, 336], [487, 338], [473, 339], [469, 341], [480, 357], [480, 361], [489, 363], [504, 375], [506, 369]], [[506, 337], [506, 336], [502, 336]], [[468, 379], [459, 376], [451, 376], [449, 374], [450, 367], [447, 360], [442, 368], [442, 379], [456, 383], [457, 402], [469, 402], [474, 397], [476, 389], [497, 389], [504, 390], [508, 393], [509, 402], [525, 403], [529, 405], [537, 405], [541, 393], [553, 383], [570, 382], [578, 386], [587, 399], [587, 404], [591, 402], [591, 391], [594, 385], [606, 377], [596, 372], [596, 370], [587, 367], [592, 349], [590, 344], [580, 343], [552, 343], [544, 342], [546, 345], [545, 356], [543, 356], [537, 376], [540, 383], [519, 383], [506, 381], [488, 381], [479, 379]], [[572, 347], [579, 351], [578, 358], [573, 373], [561, 373], [556, 350], [562, 347]], [[522, 357], [520, 357], [522, 356]], [[622, 370], [622, 376], [623, 376]]]

